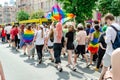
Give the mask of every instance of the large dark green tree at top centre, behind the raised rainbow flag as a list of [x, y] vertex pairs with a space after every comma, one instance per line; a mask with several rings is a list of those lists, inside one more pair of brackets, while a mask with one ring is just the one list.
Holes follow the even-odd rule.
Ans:
[[77, 23], [84, 23], [85, 20], [92, 18], [93, 9], [98, 0], [57, 0], [62, 3], [63, 9], [67, 13], [76, 15]]

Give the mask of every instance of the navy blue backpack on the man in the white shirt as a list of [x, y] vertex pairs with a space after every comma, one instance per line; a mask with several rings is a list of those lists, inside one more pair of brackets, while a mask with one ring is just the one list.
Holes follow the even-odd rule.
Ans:
[[117, 49], [120, 47], [120, 30], [116, 29], [113, 25], [111, 27], [116, 31], [116, 38], [115, 41], [112, 42], [113, 49]]

